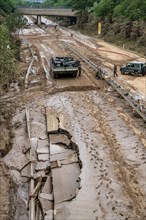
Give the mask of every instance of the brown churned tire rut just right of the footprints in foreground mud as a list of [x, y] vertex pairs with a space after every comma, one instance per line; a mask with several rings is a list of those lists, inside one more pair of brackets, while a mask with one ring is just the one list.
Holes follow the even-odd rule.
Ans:
[[[89, 105], [93, 106], [89, 97], [86, 97], [86, 99], [86, 101], [90, 103]], [[100, 104], [100, 106], [96, 106], [97, 108], [93, 106], [92, 111], [91, 109], [89, 109], [89, 111], [91, 111], [91, 114], [99, 123], [100, 132], [104, 135], [104, 142], [108, 145], [110, 150], [111, 161], [116, 162], [116, 175], [122, 183], [125, 195], [128, 196], [131, 204], [133, 204], [135, 216], [139, 218], [145, 209], [144, 192], [138, 186], [133, 166], [124, 160], [124, 156], [120, 150], [120, 144], [106, 120], [106, 115], [103, 113], [105, 104], [106, 103]]]

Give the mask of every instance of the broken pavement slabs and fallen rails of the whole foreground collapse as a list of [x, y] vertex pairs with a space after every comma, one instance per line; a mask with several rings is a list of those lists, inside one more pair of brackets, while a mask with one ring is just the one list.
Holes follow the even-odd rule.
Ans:
[[[49, 143], [39, 139], [37, 147], [31, 147], [31, 123], [26, 108], [28, 148], [23, 153], [29, 161], [19, 170], [30, 165], [29, 176], [29, 219], [67, 219], [64, 202], [70, 202], [80, 189], [78, 146], [63, 126], [62, 115], [46, 108], [47, 134]], [[22, 174], [23, 175], [23, 174]]]

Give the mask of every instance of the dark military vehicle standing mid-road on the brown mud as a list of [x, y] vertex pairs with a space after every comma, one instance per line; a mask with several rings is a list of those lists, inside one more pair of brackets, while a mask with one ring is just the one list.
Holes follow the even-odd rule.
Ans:
[[80, 61], [74, 60], [73, 57], [52, 57], [50, 59], [50, 74], [52, 78], [60, 76], [80, 76]]

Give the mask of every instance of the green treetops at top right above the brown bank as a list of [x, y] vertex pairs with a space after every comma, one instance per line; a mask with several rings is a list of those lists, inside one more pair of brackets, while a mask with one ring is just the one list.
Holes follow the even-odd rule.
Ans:
[[88, 11], [96, 17], [120, 17], [130, 20], [146, 20], [146, 0], [46, 0], [48, 6], [72, 7]]

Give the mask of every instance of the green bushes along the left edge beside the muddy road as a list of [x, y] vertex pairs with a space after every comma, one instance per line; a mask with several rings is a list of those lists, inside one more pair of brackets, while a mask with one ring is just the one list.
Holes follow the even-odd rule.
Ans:
[[14, 0], [0, 0], [0, 87], [17, 77], [18, 49], [12, 32], [24, 25], [23, 17], [14, 13]]

